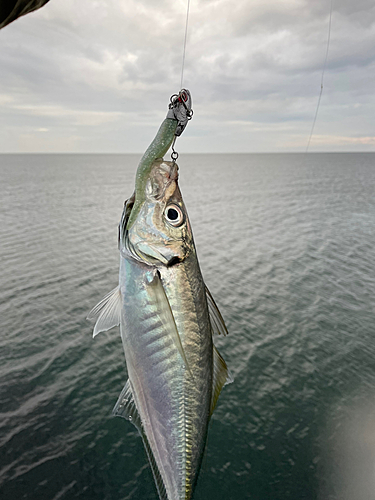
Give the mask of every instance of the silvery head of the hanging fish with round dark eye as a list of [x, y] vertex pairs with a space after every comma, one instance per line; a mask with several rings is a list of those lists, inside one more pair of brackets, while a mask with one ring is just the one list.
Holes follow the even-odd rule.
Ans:
[[126, 247], [133, 257], [151, 265], [171, 266], [194, 251], [185, 204], [178, 187], [175, 162], [155, 160], [142, 193], [133, 205], [133, 222], [126, 229]]

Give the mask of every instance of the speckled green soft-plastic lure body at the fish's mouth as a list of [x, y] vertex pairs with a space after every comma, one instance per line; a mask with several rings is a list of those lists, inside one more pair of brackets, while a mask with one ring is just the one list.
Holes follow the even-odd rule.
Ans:
[[166, 118], [160, 125], [158, 133], [139, 162], [135, 176], [135, 202], [129, 216], [127, 224], [128, 230], [134, 224], [142, 203], [145, 201], [146, 182], [150, 175], [152, 165], [157, 158], [163, 158], [171, 147], [175, 137], [177, 124], [177, 120]]

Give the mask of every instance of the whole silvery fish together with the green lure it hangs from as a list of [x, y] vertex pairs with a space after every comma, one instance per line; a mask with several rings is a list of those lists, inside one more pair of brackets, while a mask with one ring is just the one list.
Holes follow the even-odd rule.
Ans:
[[[185, 92], [179, 98], [188, 101]], [[113, 415], [138, 429], [159, 498], [189, 500], [211, 415], [232, 377], [213, 343], [228, 332], [202, 277], [178, 166], [163, 159], [187, 118], [186, 102], [172, 104], [124, 205], [119, 285], [89, 318], [94, 336], [120, 325], [129, 378]]]

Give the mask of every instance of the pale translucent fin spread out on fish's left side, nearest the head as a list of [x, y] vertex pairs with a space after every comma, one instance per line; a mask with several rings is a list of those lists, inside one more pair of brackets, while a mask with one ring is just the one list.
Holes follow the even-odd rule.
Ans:
[[118, 326], [120, 317], [121, 292], [120, 287], [116, 287], [96, 304], [87, 316], [87, 319], [96, 319], [92, 336], [95, 337], [100, 332], [106, 332], [114, 326]]

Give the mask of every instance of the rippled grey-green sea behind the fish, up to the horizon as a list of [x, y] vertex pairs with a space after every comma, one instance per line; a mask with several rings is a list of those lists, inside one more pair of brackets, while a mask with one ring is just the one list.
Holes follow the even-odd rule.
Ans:
[[[139, 155], [0, 155], [0, 498], [157, 500], [111, 416], [118, 280]], [[180, 188], [234, 377], [196, 500], [375, 499], [375, 154], [181, 154]]]

